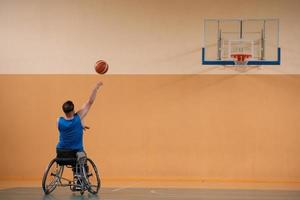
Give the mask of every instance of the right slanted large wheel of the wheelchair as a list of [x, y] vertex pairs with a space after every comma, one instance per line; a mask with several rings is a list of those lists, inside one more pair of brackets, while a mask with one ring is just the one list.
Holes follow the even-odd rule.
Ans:
[[95, 163], [89, 158], [87, 158], [86, 165], [83, 167], [83, 175], [88, 191], [97, 194], [101, 187], [101, 181]]

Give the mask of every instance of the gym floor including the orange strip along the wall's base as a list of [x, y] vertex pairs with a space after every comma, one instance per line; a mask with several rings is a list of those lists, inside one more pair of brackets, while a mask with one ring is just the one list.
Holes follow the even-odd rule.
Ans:
[[[106, 181], [98, 195], [71, 192], [67, 187], [57, 187], [44, 195], [40, 181], [0, 181], [0, 199], [4, 200], [300, 200], [299, 184], [249, 184], [197, 182], [193, 185], [179, 182], [124, 182]], [[117, 185], [117, 186], [116, 186]], [[195, 187], [195, 185], [198, 185]]]

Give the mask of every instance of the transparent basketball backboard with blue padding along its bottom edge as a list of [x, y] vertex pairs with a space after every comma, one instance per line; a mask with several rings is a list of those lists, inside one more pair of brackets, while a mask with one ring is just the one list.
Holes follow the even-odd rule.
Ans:
[[279, 19], [204, 20], [203, 65], [280, 65]]

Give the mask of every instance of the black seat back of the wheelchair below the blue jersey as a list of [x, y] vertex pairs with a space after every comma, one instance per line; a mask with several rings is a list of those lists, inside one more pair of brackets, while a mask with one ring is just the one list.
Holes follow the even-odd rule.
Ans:
[[56, 149], [56, 162], [59, 165], [75, 166], [77, 162], [77, 151], [71, 149]]

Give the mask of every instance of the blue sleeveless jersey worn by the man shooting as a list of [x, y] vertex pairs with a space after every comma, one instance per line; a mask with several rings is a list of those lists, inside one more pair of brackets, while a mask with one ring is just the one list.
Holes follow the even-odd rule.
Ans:
[[83, 151], [83, 127], [77, 113], [70, 120], [60, 117], [58, 120], [58, 130], [59, 142], [56, 148]]

